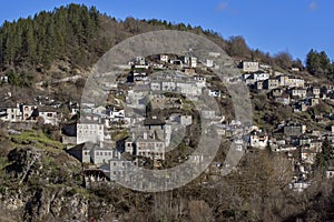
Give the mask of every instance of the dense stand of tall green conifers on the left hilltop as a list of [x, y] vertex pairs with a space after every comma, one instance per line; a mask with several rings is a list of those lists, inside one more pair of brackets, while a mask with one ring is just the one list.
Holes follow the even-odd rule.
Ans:
[[99, 28], [99, 12], [76, 4], [6, 21], [0, 30], [1, 67], [47, 67], [61, 57], [84, 65], [102, 51], [95, 42]]

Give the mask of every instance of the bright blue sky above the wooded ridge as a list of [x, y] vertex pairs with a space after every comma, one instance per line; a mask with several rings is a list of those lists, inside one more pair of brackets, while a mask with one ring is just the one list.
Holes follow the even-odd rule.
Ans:
[[0, 22], [33, 16], [69, 3], [96, 6], [117, 19], [161, 19], [219, 32], [224, 39], [243, 36], [252, 49], [275, 54], [289, 52], [305, 60], [311, 49], [334, 59], [332, 0], [4, 0]]

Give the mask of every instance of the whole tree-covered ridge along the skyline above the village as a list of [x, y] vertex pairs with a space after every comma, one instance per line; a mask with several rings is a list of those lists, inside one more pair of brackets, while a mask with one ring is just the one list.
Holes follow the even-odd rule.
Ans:
[[57, 60], [68, 59], [73, 67], [91, 67], [107, 50], [124, 39], [154, 30], [180, 30], [205, 36], [230, 57], [254, 60], [279, 69], [292, 67], [314, 75], [332, 79], [334, 65], [324, 51], [311, 49], [303, 58], [293, 59], [285, 51], [271, 56], [259, 49], [249, 49], [243, 37], [223, 37], [213, 30], [171, 23], [166, 20], [119, 20], [100, 13], [95, 7], [69, 4], [33, 17], [6, 21], [0, 27], [0, 68], [2, 72], [23, 68], [43, 72]]

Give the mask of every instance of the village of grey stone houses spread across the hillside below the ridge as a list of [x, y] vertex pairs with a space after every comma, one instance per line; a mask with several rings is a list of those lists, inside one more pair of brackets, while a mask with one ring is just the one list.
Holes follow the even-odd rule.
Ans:
[[[297, 68], [282, 73], [254, 61], [235, 61], [238, 78], [217, 81], [214, 71], [218, 64], [210, 59], [213, 56], [219, 57], [213, 52], [206, 61], [176, 54], [134, 58], [124, 64], [126, 71], [108, 92], [105, 105], [55, 101], [43, 95], [16, 103], [8, 92], [0, 104], [0, 119], [9, 123], [9, 130], [37, 122], [59, 129], [66, 151], [82, 163], [85, 182], [89, 185], [91, 182], [116, 181], [134, 165], [165, 169], [187, 160], [199, 164], [202, 157], [193, 155], [191, 151], [196, 149], [196, 137], [200, 134], [200, 112], [219, 137], [230, 141], [238, 138], [235, 140], [238, 152], [262, 149], [285, 153], [294, 165], [289, 188], [296, 191], [306, 189], [324, 142], [333, 144], [334, 141], [333, 85], [306, 81]], [[8, 77], [1, 77], [1, 81], [6, 84]], [[272, 125], [272, 129], [256, 124], [256, 120], [253, 125], [242, 125], [233, 114], [224, 111], [229, 109], [224, 107], [229, 97], [222, 85], [230, 82], [244, 82], [253, 98], [265, 94], [271, 104], [283, 105], [301, 117], [312, 110], [310, 121], [320, 127], [310, 127], [303, 118], [293, 117]], [[145, 91], [150, 92], [149, 97]], [[202, 94], [218, 101], [222, 113], [196, 111], [191, 101]], [[257, 104], [254, 107], [256, 114], [261, 109]], [[140, 110], [141, 115], [132, 115], [129, 109]], [[175, 141], [179, 139], [179, 133], [175, 132], [183, 132], [185, 138]], [[177, 157], [169, 152], [173, 145], [178, 145], [178, 152], [174, 153]], [[217, 180], [217, 175], [223, 176], [228, 168], [224, 164], [224, 160], [214, 161], [205, 172], [209, 175], [205, 183]], [[333, 178], [334, 165], [326, 164], [325, 174]]]

